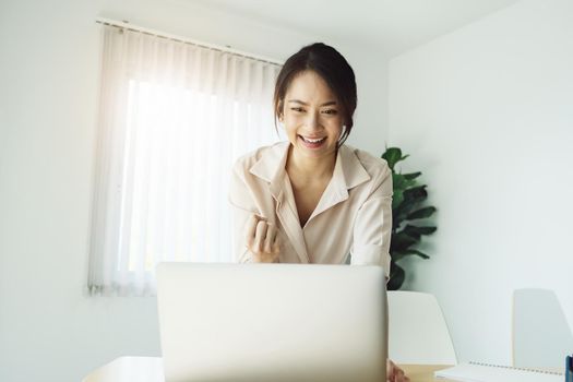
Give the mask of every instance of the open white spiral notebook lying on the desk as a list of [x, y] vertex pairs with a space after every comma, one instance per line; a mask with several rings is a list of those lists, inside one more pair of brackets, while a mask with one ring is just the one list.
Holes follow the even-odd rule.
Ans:
[[489, 363], [459, 363], [435, 372], [438, 379], [463, 382], [563, 382], [565, 374], [558, 371], [512, 368]]

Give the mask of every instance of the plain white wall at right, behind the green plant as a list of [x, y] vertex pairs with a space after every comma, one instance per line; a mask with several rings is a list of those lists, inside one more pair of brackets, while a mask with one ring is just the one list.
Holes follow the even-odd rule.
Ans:
[[572, 20], [525, 0], [390, 62], [390, 141], [439, 208], [407, 287], [438, 296], [462, 360], [511, 362], [515, 288], [573, 322]]

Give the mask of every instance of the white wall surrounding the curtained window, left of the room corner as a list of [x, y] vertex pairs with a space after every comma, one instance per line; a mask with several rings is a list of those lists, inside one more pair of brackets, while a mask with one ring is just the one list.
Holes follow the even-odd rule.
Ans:
[[[2, 0], [0, 381], [79, 381], [115, 357], [159, 354], [154, 299], [83, 295], [98, 15], [279, 59], [325, 39], [177, 1]], [[366, 49], [336, 46], [360, 71], [360, 97], [370, 98], [360, 100], [351, 142], [378, 153], [386, 79], [365, 73], [378, 68]]]

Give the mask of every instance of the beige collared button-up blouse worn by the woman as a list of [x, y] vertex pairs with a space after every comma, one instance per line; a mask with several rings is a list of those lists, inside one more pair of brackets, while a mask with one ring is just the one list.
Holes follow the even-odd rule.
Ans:
[[229, 201], [234, 210], [235, 255], [248, 262], [244, 225], [252, 214], [275, 224], [282, 263], [382, 265], [390, 275], [392, 171], [386, 162], [343, 145], [332, 179], [317, 208], [300, 226], [285, 165], [289, 142], [265, 146], [234, 166]]

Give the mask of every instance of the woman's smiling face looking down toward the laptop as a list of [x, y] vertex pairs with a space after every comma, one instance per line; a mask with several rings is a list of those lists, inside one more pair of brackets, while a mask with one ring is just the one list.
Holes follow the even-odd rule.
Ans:
[[322, 158], [336, 152], [343, 129], [341, 105], [319, 74], [305, 71], [295, 76], [283, 105], [282, 121], [297, 156]]

